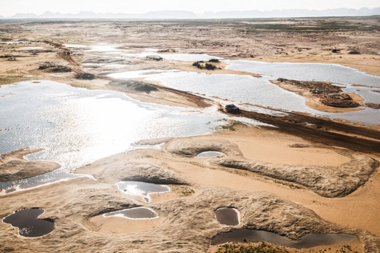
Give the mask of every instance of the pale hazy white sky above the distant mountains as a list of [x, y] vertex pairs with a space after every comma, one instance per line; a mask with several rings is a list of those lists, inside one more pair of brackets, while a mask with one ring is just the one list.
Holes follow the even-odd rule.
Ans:
[[0, 15], [15, 13], [42, 14], [45, 11], [78, 13], [145, 13], [148, 11], [185, 10], [201, 14], [206, 11], [283, 10], [380, 7], [379, 0], [0, 0]]

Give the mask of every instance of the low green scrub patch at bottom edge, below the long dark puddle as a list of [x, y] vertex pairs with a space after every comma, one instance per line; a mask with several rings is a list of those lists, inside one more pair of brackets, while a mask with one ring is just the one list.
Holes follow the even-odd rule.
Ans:
[[259, 242], [254, 244], [228, 243], [223, 244], [217, 253], [288, 253], [285, 248], [273, 246], [269, 243]]

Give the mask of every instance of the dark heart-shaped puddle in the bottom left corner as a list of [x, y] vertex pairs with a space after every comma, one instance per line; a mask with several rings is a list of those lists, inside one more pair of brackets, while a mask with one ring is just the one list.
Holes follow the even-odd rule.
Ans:
[[40, 237], [54, 230], [53, 222], [37, 219], [44, 212], [42, 208], [25, 208], [5, 217], [3, 222], [17, 227], [21, 236]]

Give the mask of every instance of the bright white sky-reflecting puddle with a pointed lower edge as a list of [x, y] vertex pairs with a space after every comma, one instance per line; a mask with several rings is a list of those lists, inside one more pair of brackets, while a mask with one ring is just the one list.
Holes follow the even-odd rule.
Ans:
[[133, 196], [142, 196], [146, 202], [150, 202], [150, 193], [170, 191], [170, 188], [168, 186], [137, 181], [121, 181], [116, 183], [116, 185], [123, 193]]

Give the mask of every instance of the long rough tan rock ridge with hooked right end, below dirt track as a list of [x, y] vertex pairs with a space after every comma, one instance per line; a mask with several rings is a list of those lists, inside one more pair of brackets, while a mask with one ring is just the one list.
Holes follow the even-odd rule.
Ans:
[[296, 183], [329, 198], [344, 197], [355, 191], [380, 165], [377, 160], [363, 154], [347, 150], [336, 152], [349, 156], [351, 161], [339, 167], [275, 165], [244, 158], [219, 159], [213, 164]]

